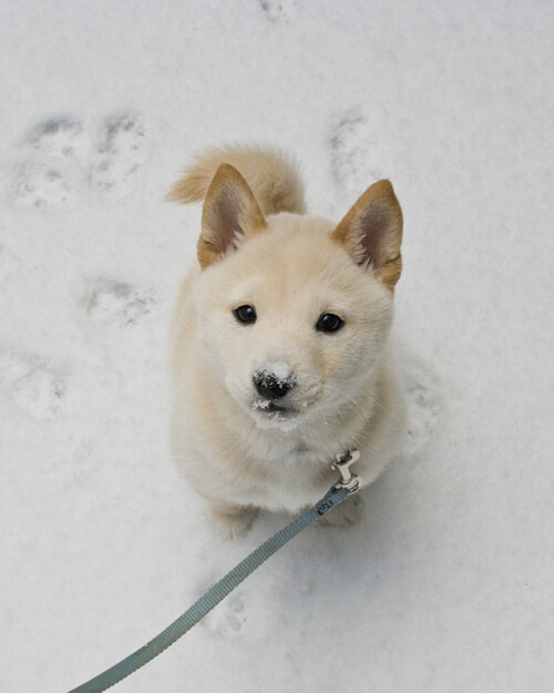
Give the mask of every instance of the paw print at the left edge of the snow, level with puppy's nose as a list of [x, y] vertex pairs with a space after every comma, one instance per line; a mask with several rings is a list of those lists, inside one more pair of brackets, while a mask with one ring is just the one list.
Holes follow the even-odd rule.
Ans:
[[23, 412], [49, 420], [63, 408], [64, 375], [34, 355], [0, 350], [0, 388]]

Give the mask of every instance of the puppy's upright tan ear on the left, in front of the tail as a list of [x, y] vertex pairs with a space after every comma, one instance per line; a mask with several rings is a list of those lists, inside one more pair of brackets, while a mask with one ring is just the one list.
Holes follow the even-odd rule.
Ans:
[[205, 269], [266, 227], [248, 183], [229, 164], [215, 172], [204, 201], [198, 262]]

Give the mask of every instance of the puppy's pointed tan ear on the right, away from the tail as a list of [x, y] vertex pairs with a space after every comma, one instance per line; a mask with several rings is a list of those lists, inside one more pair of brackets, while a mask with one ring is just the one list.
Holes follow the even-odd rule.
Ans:
[[387, 288], [402, 271], [402, 211], [389, 181], [378, 181], [359, 197], [332, 232], [358, 265], [370, 266]]

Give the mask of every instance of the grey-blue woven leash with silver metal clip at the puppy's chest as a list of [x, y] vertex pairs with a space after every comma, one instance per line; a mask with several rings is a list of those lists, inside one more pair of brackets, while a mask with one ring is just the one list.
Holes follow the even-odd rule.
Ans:
[[155, 656], [161, 654], [176, 640], [196, 625], [214, 607], [243, 582], [256, 568], [267, 561], [276, 551], [290, 541], [296, 534], [312, 522], [321, 519], [330, 510], [341, 503], [347, 496], [359, 488], [359, 479], [350, 467], [360, 458], [358, 450], [348, 450], [337, 456], [334, 469], [340, 472], [340, 480], [336, 483], [310, 510], [284, 527], [260, 547], [255, 549], [238, 565], [228, 572], [219, 582], [216, 582], [204, 597], [201, 597], [185, 613], [168, 625], [133, 654], [114, 664], [86, 683], [72, 689], [69, 693], [102, 693], [115, 685]]

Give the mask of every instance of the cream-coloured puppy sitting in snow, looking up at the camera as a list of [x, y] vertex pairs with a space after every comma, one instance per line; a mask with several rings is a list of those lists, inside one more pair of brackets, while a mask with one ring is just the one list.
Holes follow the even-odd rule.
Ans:
[[[311, 505], [349, 448], [372, 482], [403, 430], [388, 344], [402, 236], [391, 184], [337, 225], [304, 214], [291, 162], [229, 147], [201, 154], [168, 198], [204, 201], [173, 323], [172, 439], [219, 531], [244, 532], [259, 508]], [[353, 498], [331, 520], [353, 521]]]

